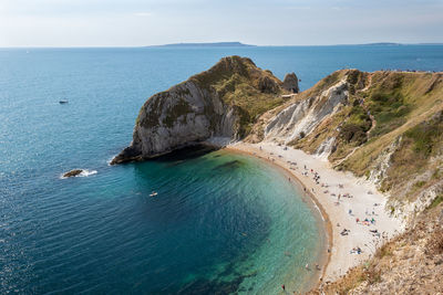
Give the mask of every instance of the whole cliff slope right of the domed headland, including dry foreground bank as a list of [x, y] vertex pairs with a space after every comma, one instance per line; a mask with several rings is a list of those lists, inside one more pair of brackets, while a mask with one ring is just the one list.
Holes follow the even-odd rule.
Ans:
[[372, 181], [408, 224], [313, 294], [443, 289], [443, 73], [337, 71], [264, 114], [246, 140], [292, 146]]

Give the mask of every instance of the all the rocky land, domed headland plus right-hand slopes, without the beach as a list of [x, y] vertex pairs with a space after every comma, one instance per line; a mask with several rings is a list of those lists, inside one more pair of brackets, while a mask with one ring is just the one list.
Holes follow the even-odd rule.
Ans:
[[[281, 82], [249, 59], [224, 57], [152, 96], [131, 145], [112, 164], [240, 140], [301, 150], [351, 172], [372, 183], [385, 198], [384, 212], [405, 226], [364, 264], [313, 293], [425, 294], [423, 282], [442, 289], [442, 73], [341, 70], [299, 93], [295, 74]], [[408, 276], [399, 275], [405, 270]]]

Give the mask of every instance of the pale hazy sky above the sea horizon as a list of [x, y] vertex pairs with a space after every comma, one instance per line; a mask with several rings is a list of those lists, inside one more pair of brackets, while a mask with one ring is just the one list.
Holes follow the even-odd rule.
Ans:
[[0, 46], [442, 43], [443, 0], [0, 0]]

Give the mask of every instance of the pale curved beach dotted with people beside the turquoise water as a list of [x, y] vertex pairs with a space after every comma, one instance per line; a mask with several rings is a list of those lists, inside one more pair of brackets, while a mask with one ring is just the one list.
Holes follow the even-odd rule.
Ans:
[[330, 235], [322, 282], [334, 281], [368, 260], [402, 229], [401, 222], [384, 210], [387, 198], [372, 183], [333, 170], [326, 159], [271, 143], [236, 143], [227, 148], [290, 171], [317, 203]]

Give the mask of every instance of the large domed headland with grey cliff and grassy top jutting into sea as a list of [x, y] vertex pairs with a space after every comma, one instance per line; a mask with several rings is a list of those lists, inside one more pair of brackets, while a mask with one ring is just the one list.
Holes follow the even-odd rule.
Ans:
[[157, 157], [212, 137], [240, 139], [261, 114], [284, 102], [281, 93], [281, 81], [251, 60], [224, 57], [208, 71], [148, 98], [131, 145], [111, 164]]

